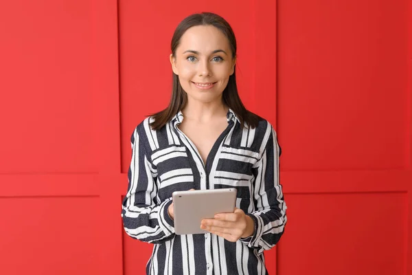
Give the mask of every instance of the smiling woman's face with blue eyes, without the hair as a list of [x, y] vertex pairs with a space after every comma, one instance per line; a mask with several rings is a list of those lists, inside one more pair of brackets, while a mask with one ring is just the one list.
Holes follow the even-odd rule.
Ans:
[[236, 60], [225, 34], [214, 26], [198, 25], [183, 34], [170, 62], [188, 100], [212, 102], [221, 100]]

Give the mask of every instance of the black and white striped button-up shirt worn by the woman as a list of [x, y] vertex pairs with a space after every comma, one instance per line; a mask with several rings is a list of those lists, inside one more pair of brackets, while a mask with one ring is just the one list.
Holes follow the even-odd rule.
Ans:
[[[227, 128], [203, 163], [193, 142], [178, 128], [181, 111], [162, 129], [141, 122], [130, 138], [128, 190], [122, 202], [124, 230], [155, 244], [146, 274], [267, 274], [264, 250], [279, 241], [286, 204], [279, 184], [281, 148], [267, 120], [240, 126], [229, 109]], [[174, 234], [168, 214], [175, 190], [236, 188], [236, 207], [255, 223], [252, 236], [236, 242], [216, 234]], [[199, 225], [200, 226], [200, 225]]]

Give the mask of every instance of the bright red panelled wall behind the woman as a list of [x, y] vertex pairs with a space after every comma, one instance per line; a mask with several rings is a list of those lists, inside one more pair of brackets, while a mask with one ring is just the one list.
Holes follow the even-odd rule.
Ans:
[[0, 274], [144, 274], [120, 217], [130, 135], [201, 11], [231, 23], [240, 96], [282, 146], [270, 274], [412, 274], [407, 0], [0, 3]]

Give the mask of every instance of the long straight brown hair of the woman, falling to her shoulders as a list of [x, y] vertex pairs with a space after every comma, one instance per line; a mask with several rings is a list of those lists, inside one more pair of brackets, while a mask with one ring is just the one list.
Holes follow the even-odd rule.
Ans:
[[[197, 25], [212, 25], [215, 28], [218, 28], [229, 40], [229, 45], [231, 47], [232, 58], [236, 57], [236, 38], [235, 34], [229, 23], [218, 14], [211, 12], [202, 12], [200, 14], [192, 14], [189, 17], [186, 17], [179, 23], [172, 37], [172, 54], [176, 57], [176, 48], [179, 46], [181, 37], [189, 28], [192, 28]], [[170, 99], [169, 106], [163, 111], [152, 114], [155, 119], [150, 123], [152, 129], [159, 130], [165, 124], [167, 124], [176, 113], [185, 108], [187, 104], [187, 94], [181, 87], [179, 82], [179, 76], [173, 74], [173, 86], [172, 86], [172, 98]], [[242, 126], [244, 122], [251, 128], [258, 126], [259, 120], [261, 118], [254, 113], [248, 111], [242, 104], [238, 94], [238, 87], [236, 86], [236, 65], [234, 72], [229, 76], [229, 81], [225, 90], [223, 90], [222, 100], [227, 104], [227, 106], [236, 113], [236, 116], [240, 120]]]

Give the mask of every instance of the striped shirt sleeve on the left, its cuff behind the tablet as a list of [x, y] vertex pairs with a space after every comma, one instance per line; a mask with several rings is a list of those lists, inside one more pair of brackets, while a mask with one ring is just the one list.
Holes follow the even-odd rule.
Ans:
[[159, 202], [157, 170], [150, 163], [143, 135], [137, 126], [130, 137], [132, 157], [128, 170], [128, 190], [122, 202], [124, 230], [133, 239], [163, 243], [174, 238], [174, 221], [168, 214], [172, 199]]

